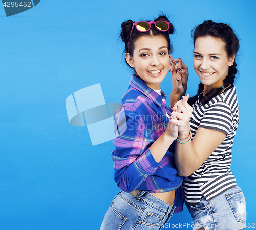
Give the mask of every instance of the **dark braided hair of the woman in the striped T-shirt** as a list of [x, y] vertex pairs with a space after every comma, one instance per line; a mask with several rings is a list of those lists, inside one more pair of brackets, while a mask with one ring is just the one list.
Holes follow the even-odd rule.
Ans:
[[[199, 37], [206, 37], [211, 36], [214, 38], [220, 38], [223, 42], [225, 42], [225, 51], [227, 56], [233, 57], [237, 54], [239, 50], [239, 40], [234, 33], [233, 29], [224, 23], [216, 23], [211, 20], [204, 21], [204, 23], [198, 25], [195, 27], [192, 32], [191, 36], [194, 41], [194, 46], [197, 38]], [[234, 83], [235, 75], [237, 74], [237, 63], [236, 60], [234, 60], [233, 65], [229, 66], [228, 68], [228, 75], [224, 79], [224, 87], [228, 87], [230, 84], [232, 85]], [[205, 96], [203, 94], [200, 95], [199, 100], [202, 105], [205, 105], [208, 103], [213, 97], [218, 95], [222, 91], [222, 87], [220, 88], [214, 88], [207, 90], [205, 92]], [[197, 99], [198, 95], [202, 93], [204, 90], [204, 85], [202, 83], [198, 86], [197, 94], [194, 97], [191, 97], [188, 99], [188, 104], [193, 105]]]

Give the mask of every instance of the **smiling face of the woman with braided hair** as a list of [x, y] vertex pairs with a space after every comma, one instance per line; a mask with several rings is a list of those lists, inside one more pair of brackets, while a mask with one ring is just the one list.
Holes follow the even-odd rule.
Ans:
[[223, 86], [228, 67], [233, 61], [234, 56], [227, 56], [225, 42], [221, 39], [210, 36], [197, 38], [193, 66], [204, 85], [204, 93], [206, 90]]

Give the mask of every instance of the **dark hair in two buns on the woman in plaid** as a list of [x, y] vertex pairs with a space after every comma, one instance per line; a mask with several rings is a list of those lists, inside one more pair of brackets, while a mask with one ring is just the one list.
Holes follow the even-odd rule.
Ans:
[[[169, 19], [165, 15], [160, 15], [154, 21], [170, 22]], [[132, 21], [132, 20], [124, 21], [122, 23], [122, 30], [120, 33], [120, 37], [124, 42], [124, 47], [125, 47], [124, 52], [129, 53], [130, 57], [133, 57], [133, 52], [135, 49], [135, 41], [141, 36], [161, 35], [166, 39], [166, 41], [168, 43], [168, 47], [167, 47], [168, 52], [171, 53], [173, 51], [172, 43], [170, 42], [170, 37], [169, 37], [169, 34], [174, 34], [174, 32], [175, 32], [175, 29], [174, 29], [174, 26], [172, 23], [170, 23], [170, 25], [169, 25], [169, 31], [166, 31], [166, 32], [161, 32], [159, 30], [156, 30], [154, 25], [151, 25], [150, 30], [147, 32], [140, 32], [136, 28], [133, 28], [133, 31], [131, 34], [133, 23], [134, 23], [134, 21]], [[130, 37], [130, 34], [131, 34], [131, 37]], [[130, 37], [130, 40], [129, 40], [129, 37]], [[129, 41], [129, 47], [128, 47], [128, 41]], [[125, 62], [126, 62], [126, 60], [125, 60]], [[126, 62], [126, 64], [130, 67], [130, 65], [127, 62]]]

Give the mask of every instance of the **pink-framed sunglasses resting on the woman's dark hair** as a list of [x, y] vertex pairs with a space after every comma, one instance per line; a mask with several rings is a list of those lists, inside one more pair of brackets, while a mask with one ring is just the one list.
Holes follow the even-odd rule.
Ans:
[[128, 39], [128, 44], [127, 44], [128, 49], [129, 49], [130, 38], [131, 38], [131, 34], [133, 32], [134, 26], [140, 32], [147, 32], [147, 31], [150, 30], [151, 24], [154, 24], [155, 28], [157, 30], [165, 32], [165, 31], [169, 30], [170, 22], [168, 22], [168, 21], [149, 21], [149, 22], [147, 22], [147, 21], [138, 21], [138, 22], [134, 22], [131, 33], [130, 33], [130, 36], [129, 36], [129, 39]]

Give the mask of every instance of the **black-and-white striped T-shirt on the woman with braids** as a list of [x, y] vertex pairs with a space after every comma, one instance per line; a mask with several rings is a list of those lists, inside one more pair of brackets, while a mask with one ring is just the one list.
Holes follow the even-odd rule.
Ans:
[[183, 182], [185, 202], [197, 205], [202, 197], [210, 200], [237, 185], [230, 170], [231, 148], [239, 123], [236, 87], [233, 85], [202, 106], [197, 100], [193, 104], [190, 119], [194, 137], [199, 127], [218, 130], [227, 136], [200, 168]]

